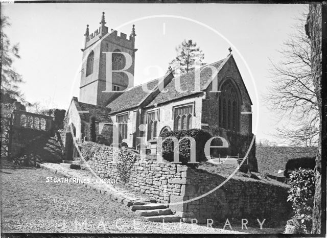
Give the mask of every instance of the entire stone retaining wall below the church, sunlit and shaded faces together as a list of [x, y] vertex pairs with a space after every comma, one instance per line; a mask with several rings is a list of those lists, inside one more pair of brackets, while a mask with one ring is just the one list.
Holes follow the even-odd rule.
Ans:
[[[93, 142], [84, 142], [83, 147], [94, 150], [87, 163], [98, 176], [121, 182], [113, 163], [112, 148]], [[85, 169], [86, 165], [82, 164], [82, 168]], [[224, 180], [225, 177], [218, 174], [191, 169], [185, 165], [158, 163], [155, 157], [147, 157], [142, 161], [138, 157], [125, 185], [147, 194], [159, 203], [170, 203], [170, 208], [185, 222], [192, 218], [198, 219], [199, 223], [206, 219], [226, 218], [260, 218], [273, 222], [277, 218], [281, 220], [289, 216], [286, 184], [248, 177], [232, 177], [204, 198], [176, 204], [201, 196]]]

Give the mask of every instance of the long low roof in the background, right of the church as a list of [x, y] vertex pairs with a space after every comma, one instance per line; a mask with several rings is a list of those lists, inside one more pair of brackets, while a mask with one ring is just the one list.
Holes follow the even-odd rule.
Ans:
[[255, 157], [258, 161], [258, 170], [260, 173], [275, 176], [284, 176], [284, 173], [278, 174], [278, 170], [284, 172], [285, 165], [289, 159], [299, 157], [315, 157], [316, 147], [260, 147], [256, 146]]

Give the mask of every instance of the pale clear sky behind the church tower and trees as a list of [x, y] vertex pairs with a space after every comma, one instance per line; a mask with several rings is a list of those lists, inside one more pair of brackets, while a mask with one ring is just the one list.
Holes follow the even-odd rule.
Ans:
[[272, 83], [270, 60], [281, 59], [278, 50], [305, 9], [300, 4], [69, 3], [2, 4], [1, 13], [11, 22], [6, 34], [20, 46], [21, 58], [13, 65], [25, 80], [21, 90], [29, 102], [67, 110], [79, 96], [86, 25], [94, 32], [105, 12], [109, 29], [129, 36], [135, 25], [134, 85], [164, 74], [184, 39], [200, 46], [206, 63], [225, 58], [231, 47], [253, 102], [256, 140], [278, 143], [273, 134], [283, 121], [263, 100]]

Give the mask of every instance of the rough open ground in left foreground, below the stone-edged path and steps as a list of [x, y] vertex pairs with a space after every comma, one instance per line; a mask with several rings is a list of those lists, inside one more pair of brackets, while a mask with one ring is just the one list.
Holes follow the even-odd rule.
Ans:
[[[60, 233], [240, 233], [186, 223], [155, 223], [127, 206], [79, 183], [46, 182], [56, 176], [34, 168], [2, 163], [2, 232]], [[259, 229], [241, 230], [261, 232]], [[265, 233], [276, 232], [266, 230]]]

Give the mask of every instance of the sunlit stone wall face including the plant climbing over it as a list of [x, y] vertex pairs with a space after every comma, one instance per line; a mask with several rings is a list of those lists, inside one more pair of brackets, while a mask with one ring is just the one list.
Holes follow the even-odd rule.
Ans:
[[[159, 203], [169, 203], [172, 195], [183, 194], [182, 182], [188, 166], [173, 163], [158, 163], [156, 157], [145, 160], [128, 151], [121, 151], [113, 160], [113, 149], [86, 141], [82, 154], [90, 168], [101, 178], [117, 179], [136, 191], [147, 194]], [[82, 168], [87, 165], [82, 163]]]

